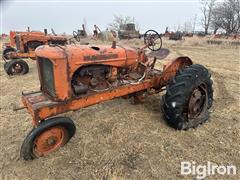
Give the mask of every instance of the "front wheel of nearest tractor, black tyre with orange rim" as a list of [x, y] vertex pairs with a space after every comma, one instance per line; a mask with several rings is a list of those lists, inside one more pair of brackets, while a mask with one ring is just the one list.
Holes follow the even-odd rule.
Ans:
[[43, 121], [29, 132], [23, 141], [20, 157], [32, 160], [46, 156], [64, 146], [75, 134], [76, 127], [67, 117], [54, 117]]

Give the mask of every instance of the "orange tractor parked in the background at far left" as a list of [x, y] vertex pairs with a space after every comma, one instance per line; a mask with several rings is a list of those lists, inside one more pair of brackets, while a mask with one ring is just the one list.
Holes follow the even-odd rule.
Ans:
[[49, 35], [47, 30], [41, 31], [10, 31], [10, 42], [3, 46], [2, 58], [5, 61], [4, 69], [8, 75], [26, 74], [29, 67], [21, 58], [36, 59], [35, 49], [46, 44], [65, 45], [67, 38], [60, 35]]

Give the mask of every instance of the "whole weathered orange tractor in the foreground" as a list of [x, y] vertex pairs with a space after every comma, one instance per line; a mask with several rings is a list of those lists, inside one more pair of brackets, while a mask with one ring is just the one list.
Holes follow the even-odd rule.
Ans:
[[[115, 41], [109, 46], [38, 47], [41, 88], [23, 93], [24, 106], [18, 108], [27, 108], [34, 126], [20, 156], [25, 160], [46, 156], [71, 139], [75, 125], [59, 114], [118, 97], [133, 98], [137, 103], [166, 90], [163, 112], [172, 127], [187, 130], [205, 122], [213, 102], [208, 70], [188, 57], [178, 57], [158, 70], [154, 65], [164, 54], [161, 37], [149, 30], [144, 42], [141, 49], [117, 46]], [[146, 54], [145, 48], [154, 51]]]

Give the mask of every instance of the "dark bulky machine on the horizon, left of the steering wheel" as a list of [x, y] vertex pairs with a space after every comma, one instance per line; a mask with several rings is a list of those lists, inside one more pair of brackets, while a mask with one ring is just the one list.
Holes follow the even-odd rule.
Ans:
[[141, 38], [139, 31], [136, 30], [135, 24], [123, 24], [120, 26], [120, 30], [118, 31], [119, 39], [133, 39], [133, 38]]

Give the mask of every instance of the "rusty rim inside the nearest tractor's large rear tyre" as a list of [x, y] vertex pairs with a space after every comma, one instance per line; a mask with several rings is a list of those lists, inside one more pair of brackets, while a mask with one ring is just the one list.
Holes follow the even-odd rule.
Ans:
[[207, 86], [203, 83], [196, 87], [188, 103], [188, 119], [195, 120], [205, 114], [208, 104]]

